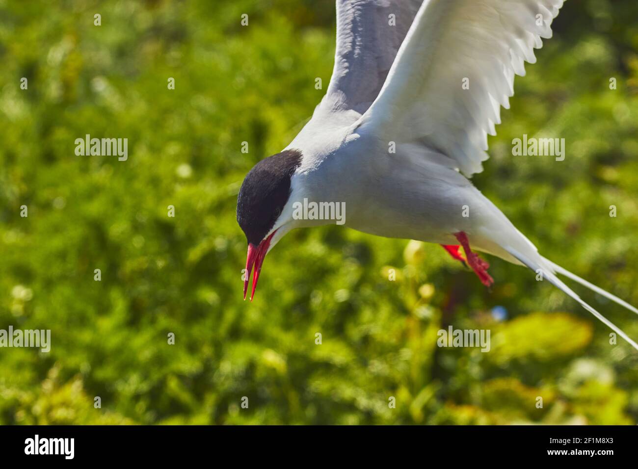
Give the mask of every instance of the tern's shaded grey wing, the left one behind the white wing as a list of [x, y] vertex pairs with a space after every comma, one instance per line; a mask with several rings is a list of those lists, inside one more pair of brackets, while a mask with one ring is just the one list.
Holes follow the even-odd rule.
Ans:
[[322, 101], [363, 114], [378, 96], [422, 0], [337, 0], [337, 48]]

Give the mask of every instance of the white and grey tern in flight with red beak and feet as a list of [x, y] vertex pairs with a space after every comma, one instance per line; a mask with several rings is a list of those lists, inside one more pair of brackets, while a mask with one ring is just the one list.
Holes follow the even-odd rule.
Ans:
[[[244, 299], [266, 254], [293, 228], [334, 223], [295, 216], [295, 202], [345, 203], [361, 232], [441, 244], [487, 287], [477, 251], [542, 273], [638, 350], [571, 290], [565, 276], [638, 309], [538, 253], [470, 182], [487, 160], [514, 76], [535, 63], [563, 0], [337, 0], [332, 78], [299, 135], [259, 161], [237, 198], [248, 240]], [[461, 253], [461, 246], [463, 253]]]

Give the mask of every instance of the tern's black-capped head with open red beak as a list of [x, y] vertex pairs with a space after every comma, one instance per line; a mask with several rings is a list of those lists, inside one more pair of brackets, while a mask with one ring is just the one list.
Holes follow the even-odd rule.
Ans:
[[292, 210], [288, 207], [292, 191], [292, 175], [301, 164], [301, 153], [286, 150], [257, 163], [246, 175], [237, 196], [237, 222], [248, 241], [244, 299], [253, 274], [253, 301], [263, 259], [292, 225]]

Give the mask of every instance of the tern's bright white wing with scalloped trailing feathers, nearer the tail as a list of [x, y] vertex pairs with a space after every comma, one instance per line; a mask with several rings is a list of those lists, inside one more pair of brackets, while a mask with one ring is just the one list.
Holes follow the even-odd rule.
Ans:
[[395, 142], [421, 142], [482, 171], [487, 134], [509, 107], [514, 75], [552, 35], [563, 0], [425, 0], [361, 125]]

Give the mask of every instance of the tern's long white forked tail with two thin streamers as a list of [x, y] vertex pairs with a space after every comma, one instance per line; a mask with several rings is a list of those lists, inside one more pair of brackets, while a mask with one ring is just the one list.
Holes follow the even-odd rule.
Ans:
[[563, 292], [565, 292], [570, 297], [575, 299], [575, 301], [579, 302], [583, 308], [587, 309], [587, 311], [589, 311], [591, 314], [596, 316], [600, 321], [604, 322], [604, 324], [606, 324], [610, 329], [612, 329], [612, 331], [616, 332], [616, 334], [621, 336], [621, 338], [625, 339], [628, 343], [632, 345], [632, 347], [638, 350], [638, 344], [635, 343], [635, 341], [633, 341], [627, 334], [625, 334], [625, 332], [623, 332], [622, 329], [620, 329], [618, 326], [612, 323], [609, 319], [605, 318], [605, 316], [598, 313], [596, 309], [592, 308], [589, 304], [583, 301], [581, 297], [575, 294], [575, 292], [571, 288], [567, 287], [567, 285], [565, 285], [565, 283], [563, 283], [561, 279], [556, 276], [556, 273], [564, 275], [565, 277], [580, 283], [584, 287], [590, 288], [590, 290], [593, 290], [593, 292], [596, 292], [597, 294], [602, 295], [613, 302], [616, 302], [617, 304], [629, 309], [630, 311], [633, 311], [636, 314], [638, 314], [638, 309], [634, 308], [634, 306], [628, 304], [627, 302], [619, 299], [617, 296], [612, 295], [611, 293], [606, 292], [602, 288], [597, 287], [596, 285], [593, 285], [592, 283], [580, 278], [579, 276], [575, 274], [572, 274], [572, 272], [569, 272], [566, 269], [563, 269], [563, 267], [560, 267], [560, 265], [554, 264], [554, 262], [551, 262], [551, 260], [541, 257], [537, 253], [535, 253], [536, 256], [534, 256], [535, 259], [530, 259], [522, 255], [521, 253], [517, 252], [515, 249], [511, 249], [511, 248], [505, 248], [505, 249], [508, 251], [508, 253], [516, 257], [519, 261], [523, 262], [523, 264], [529, 267], [531, 270], [538, 271], [538, 269], [540, 269], [540, 271], [542, 272], [543, 278], [546, 278], [547, 280], [549, 280], [549, 282], [552, 285], [554, 285], [554, 287], [560, 288], [560, 290], [563, 290]]

